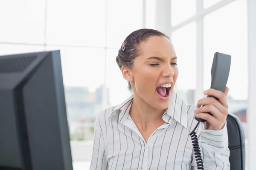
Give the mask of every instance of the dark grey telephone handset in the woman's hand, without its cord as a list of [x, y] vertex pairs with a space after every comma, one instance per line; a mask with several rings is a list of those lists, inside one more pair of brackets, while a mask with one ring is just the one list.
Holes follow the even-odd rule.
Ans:
[[[227, 80], [230, 72], [230, 65], [231, 65], [231, 56], [223, 53], [216, 52], [214, 54], [213, 62], [212, 62], [212, 82], [211, 87], [215, 90], [222, 91], [224, 93]], [[207, 97], [214, 97], [215, 96], [207, 96]], [[217, 99], [218, 100], [218, 99]], [[211, 114], [211, 113], [208, 113]], [[212, 114], [211, 114], [212, 115]], [[198, 122], [205, 122], [204, 119], [200, 119], [195, 117]]]

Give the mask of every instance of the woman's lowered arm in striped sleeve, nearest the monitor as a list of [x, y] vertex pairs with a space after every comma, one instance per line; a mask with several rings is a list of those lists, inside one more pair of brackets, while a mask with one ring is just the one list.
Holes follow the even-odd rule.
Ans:
[[107, 170], [107, 152], [105, 150], [104, 139], [99, 125], [99, 117], [96, 119], [93, 155], [90, 164], [90, 170]]

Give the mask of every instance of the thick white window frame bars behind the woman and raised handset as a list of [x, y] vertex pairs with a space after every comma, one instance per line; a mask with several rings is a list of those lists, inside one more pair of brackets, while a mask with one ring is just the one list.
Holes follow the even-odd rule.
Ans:
[[[204, 0], [196, 0], [196, 14], [187, 20], [171, 26], [171, 4], [172, 0], [155, 0], [155, 29], [163, 31], [167, 35], [172, 35], [173, 31], [186, 26], [189, 23], [196, 23], [196, 38], [197, 38], [197, 68], [196, 68], [196, 89], [194, 101], [204, 97], [204, 23], [203, 18], [212, 11], [218, 10], [236, 0], [222, 0], [209, 8], [203, 7]], [[163, 4], [170, 4], [164, 6]], [[168, 15], [168, 16], [167, 16]], [[164, 18], [164, 19], [163, 19]], [[256, 114], [254, 113], [254, 105], [256, 103], [256, 0], [247, 0], [247, 40], [248, 40], [248, 108], [247, 108], [247, 153], [246, 153], [246, 168], [252, 170], [256, 159]], [[166, 23], [167, 22], [167, 23]], [[169, 31], [166, 31], [169, 30]]]

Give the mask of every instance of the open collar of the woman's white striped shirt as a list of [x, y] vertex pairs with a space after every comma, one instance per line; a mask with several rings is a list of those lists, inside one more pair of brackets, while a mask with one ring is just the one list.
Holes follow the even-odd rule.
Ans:
[[[129, 110], [133, 102], [133, 95], [113, 108], [111, 115], [108, 117], [108, 124], [111, 119], [118, 113], [118, 119], [123, 123], [129, 116]], [[188, 104], [177, 94], [175, 90], [172, 91], [171, 100], [166, 112], [163, 114], [163, 120], [167, 123], [172, 123], [176, 120], [187, 129], [188, 123]]]

